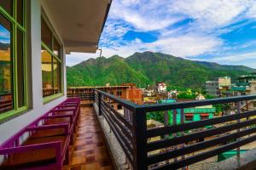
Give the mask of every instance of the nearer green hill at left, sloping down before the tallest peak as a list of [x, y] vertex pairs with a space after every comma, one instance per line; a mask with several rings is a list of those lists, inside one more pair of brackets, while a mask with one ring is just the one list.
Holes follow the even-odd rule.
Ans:
[[108, 82], [119, 85], [122, 82], [148, 84], [151, 81], [117, 55], [108, 59], [88, 59], [79, 65], [67, 67], [67, 86], [102, 86]]

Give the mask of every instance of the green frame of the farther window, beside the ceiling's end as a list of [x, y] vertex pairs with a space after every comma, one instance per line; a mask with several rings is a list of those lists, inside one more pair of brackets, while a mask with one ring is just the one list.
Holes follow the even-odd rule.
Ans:
[[[61, 77], [60, 77], [60, 84], [59, 84], [61, 87], [58, 87], [58, 88], [60, 88], [60, 90], [59, 90], [60, 92], [55, 94], [55, 81], [54, 81], [55, 79], [53, 78], [52, 84], [53, 84], [53, 88], [54, 88], [54, 93], [49, 95], [49, 96], [43, 97], [44, 104], [47, 104], [47, 103], [49, 103], [50, 101], [52, 101], [54, 99], [58, 99], [61, 96], [64, 96], [64, 91], [63, 91], [64, 90], [64, 78], [63, 78], [64, 71], [63, 71], [63, 61], [62, 61], [63, 57], [62, 57], [62, 53], [60, 53], [60, 51], [59, 51], [60, 54], [58, 54], [58, 55], [54, 53], [55, 41], [60, 45], [60, 50], [62, 49], [60, 41], [57, 40], [59, 38], [55, 35], [55, 31], [52, 29], [52, 26], [50, 26], [49, 22], [47, 22], [48, 20], [46, 19], [45, 14], [42, 14], [41, 20], [44, 20], [46, 25], [49, 27], [49, 31], [51, 32], [51, 48], [49, 48], [49, 46], [45, 42], [43, 42], [43, 41], [41, 41], [41, 48], [44, 48], [52, 56], [52, 58], [53, 58], [52, 59], [52, 67], [54, 65], [53, 64], [54, 59], [57, 62], [59, 62], [59, 63], [57, 63], [57, 65], [60, 64], [59, 65], [60, 66], [59, 69], [60, 69], [60, 75], [61, 75]], [[52, 73], [52, 77], [54, 77], [53, 74], [54, 74], [54, 71]]]

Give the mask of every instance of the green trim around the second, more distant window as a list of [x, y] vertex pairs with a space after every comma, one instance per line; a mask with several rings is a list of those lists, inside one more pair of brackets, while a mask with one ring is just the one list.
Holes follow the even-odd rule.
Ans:
[[[61, 81], [60, 85], [61, 85], [61, 87], [59, 87], [60, 88], [60, 92], [57, 93], [57, 94], [53, 93], [52, 95], [45, 96], [45, 97], [43, 97], [43, 95], [42, 95], [43, 103], [47, 104], [50, 101], [58, 99], [58, 98], [60, 98], [61, 96], [64, 95], [64, 81], [63, 81], [64, 80], [63, 79], [63, 74], [64, 74], [63, 63], [64, 62], [63, 62], [63, 53], [62, 53], [62, 49], [63, 49], [62, 43], [60, 41], [60, 38], [56, 35], [53, 26], [51, 26], [51, 24], [50, 24], [50, 22], [49, 22], [49, 20], [48, 20], [48, 18], [46, 16], [46, 14], [44, 13], [44, 9], [43, 8], [42, 8], [42, 13], [41, 13], [41, 23], [42, 23], [42, 20], [44, 20], [44, 23], [46, 24], [46, 26], [48, 26], [49, 31], [51, 32], [51, 49], [48, 47], [48, 45], [46, 43], [44, 43], [42, 41], [42, 35], [41, 35], [41, 49], [44, 48], [52, 56], [53, 59], [56, 59], [58, 64], [60, 64], [59, 66], [60, 66], [60, 70], [61, 70], [60, 71], [60, 73], [61, 73], [61, 77], [60, 77], [60, 81]], [[42, 26], [40, 28], [42, 28]], [[58, 54], [58, 55], [56, 55], [54, 53], [54, 44], [55, 44], [54, 42], [55, 41], [58, 42], [58, 44], [60, 45], [60, 51], [59, 51], [60, 54]], [[42, 55], [41, 55], [41, 59], [42, 59]], [[53, 59], [52, 59], [52, 62], [51, 62], [52, 65], [53, 65]], [[41, 61], [41, 65], [42, 65], [42, 61]], [[52, 71], [51, 74], [53, 74], [52, 76], [54, 77], [54, 71]], [[42, 82], [43, 82], [43, 77], [42, 77]], [[53, 85], [54, 85], [54, 82], [55, 81], [53, 79], [53, 82], [52, 82]], [[53, 88], [55, 88], [55, 86]], [[43, 85], [42, 85], [42, 89], [43, 89]]]

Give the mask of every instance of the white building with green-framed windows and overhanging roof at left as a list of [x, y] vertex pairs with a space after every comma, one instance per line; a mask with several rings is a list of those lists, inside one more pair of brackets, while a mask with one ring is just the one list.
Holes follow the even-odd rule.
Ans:
[[[1, 150], [66, 101], [66, 54], [96, 53], [110, 4], [111, 0], [0, 1]], [[28, 136], [24, 133], [13, 146], [19, 147]], [[2, 167], [4, 157], [8, 156], [1, 152], [0, 169], [20, 169]]]

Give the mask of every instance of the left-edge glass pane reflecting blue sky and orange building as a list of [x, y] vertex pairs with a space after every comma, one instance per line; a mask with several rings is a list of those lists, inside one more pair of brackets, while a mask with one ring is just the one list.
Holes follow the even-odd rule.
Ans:
[[11, 23], [0, 14], [0, 114], [13, 110]]

